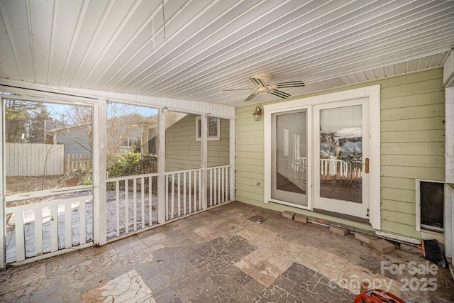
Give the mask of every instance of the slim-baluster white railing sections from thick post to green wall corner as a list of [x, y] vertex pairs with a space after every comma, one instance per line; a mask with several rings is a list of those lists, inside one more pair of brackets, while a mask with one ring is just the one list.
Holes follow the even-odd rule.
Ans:
[[[193, 214], [230, 199], [231, 165], [207, 169], [207, 192], [202, 192], [203, 169], [165, 172], [164, 219]], [[159, 173], [113, 177], [107, 183], [107, 238], [147, 229], [157, 224]], [[206, 194], [206, 196], [204, 196]]]

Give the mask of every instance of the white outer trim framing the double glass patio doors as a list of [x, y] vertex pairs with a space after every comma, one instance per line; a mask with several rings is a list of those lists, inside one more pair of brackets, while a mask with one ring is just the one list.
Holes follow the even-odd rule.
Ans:
[[[370, 142], [370, 217], [369, 221], [372, 228], [380, 230], [381, 228], [381, 209], [380, 209], [380, 84], [372, 85], [370, 87], [362, 87], [359, 89], [349, 89], [343, 92], [335, 92], [331, 94], [323, 94], [315, 97], [307, 97], [301, 99], [295, 99], [292, 101], [284, 101], [276, 104], [270, 104], [263, 106], [265, 111], [264, 114], [264, 126], [265, 126], [265, 203], [272, 201], [271, 198], [271, 114], [279, 111], [290, 111], [308, 107], [309, 111], [312, 111], [312, 106], [316, 104], [323, 104], [336, 101], [344, 101], [357, 98], [369, 98], [369, 136], [373, 140]], [[308, 132], [312, 133], [314, 126], [311, 124], [308, 126]], [[312, 152], [312, 146], [309, 146], [309, 153]], [[309, 163], [310, 161], [308, 161]], [[308, 167], [309, 172], [311, 168]], [[312, 182], [312, 178], [310, 178]], [[308, 180], [309, 181], [309, 180]], [[312, 183], [311, 187], [312, 187]], [[307, 207], [301, 207], [309, 210], [313, 210], [314, 197], [308, 196], [309, 203]], [[282, 203], [287, 204], [288, 203]], [[292, 206], [295, 206], [292, 204]]]

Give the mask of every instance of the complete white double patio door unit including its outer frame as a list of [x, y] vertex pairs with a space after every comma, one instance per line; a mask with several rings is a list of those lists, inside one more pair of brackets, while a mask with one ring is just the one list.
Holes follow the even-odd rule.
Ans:
[[265, 203], [380, 229], [380, 86], [265, 105]]

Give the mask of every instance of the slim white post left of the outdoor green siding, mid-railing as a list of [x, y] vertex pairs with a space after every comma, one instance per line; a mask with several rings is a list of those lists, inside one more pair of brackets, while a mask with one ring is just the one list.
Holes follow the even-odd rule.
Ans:
[[[167, 108], [166, 108], [167, 109]], [[165, 223], [165, 113], [157, 114], [157, 223]]]

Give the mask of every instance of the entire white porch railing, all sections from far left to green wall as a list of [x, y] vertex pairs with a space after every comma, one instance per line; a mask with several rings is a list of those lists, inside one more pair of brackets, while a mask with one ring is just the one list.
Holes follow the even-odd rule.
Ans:
[[[202, 192], [205, 175], [206, 192]], [[108, 239], [157, 223], [158, 176], [153, 173], [106, 180]], [[165, 221], [201, 211], [204, 202], [211, 207], [231, 199], [231, 165], [209, 167], [206, 174], [201, 168], [166, 172], [165, 181]], [[20, 205], [23, 202], [31, 204]], [[92, 186], [14, 194], [6, 197], [6, 205], [6, 263], [92, 246]]]

